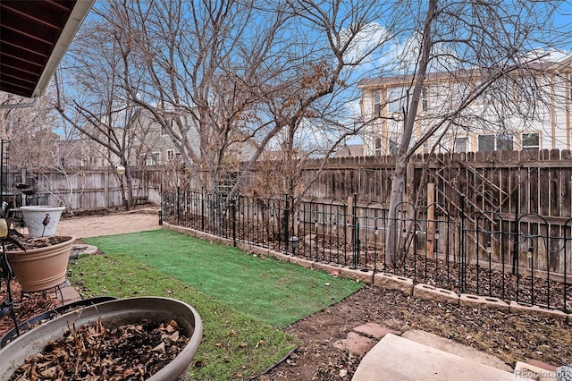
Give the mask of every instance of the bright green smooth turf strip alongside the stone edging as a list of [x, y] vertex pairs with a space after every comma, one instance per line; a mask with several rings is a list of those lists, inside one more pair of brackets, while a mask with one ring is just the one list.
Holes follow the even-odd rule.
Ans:
[[[361, 284], [168, 230], [88, 238], [272, 326], [286, 327], [356, 292]], [[122, 276], [119, 274], [118, 276]]]

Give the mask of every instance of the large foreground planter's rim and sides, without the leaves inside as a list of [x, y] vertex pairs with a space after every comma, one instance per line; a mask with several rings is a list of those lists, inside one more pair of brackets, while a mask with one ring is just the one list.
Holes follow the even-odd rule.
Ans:
[[86, 324], [95, 324], [97, 318], [111, 329], [143, 319], [177, 322], [183, 334], [189, 337], [189, 343], [171, 363], [148, 378], [153, 381], [185, 379], [203, 338], [203, 324], [198, 312], [185, 302], [155, 297], [106, 301], [50, 320], [8, 343], [0, 350], [0, 379], [11, 377], [25, 360], [43, 351], [48, 342], [62, 338], [71, 326], [80, 329]]

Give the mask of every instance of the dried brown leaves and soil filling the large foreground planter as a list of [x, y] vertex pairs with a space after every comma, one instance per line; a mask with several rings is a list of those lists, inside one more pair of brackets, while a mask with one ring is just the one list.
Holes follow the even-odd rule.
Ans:
[[144, 380], [169, 364], [189, 343], [175, 321], [109, 329], [73, 326], [62, 339], [30, 357], [11, 380]]

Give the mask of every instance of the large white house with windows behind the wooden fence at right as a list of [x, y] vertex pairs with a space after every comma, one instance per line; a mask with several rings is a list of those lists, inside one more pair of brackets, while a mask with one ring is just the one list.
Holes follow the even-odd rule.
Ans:
[[[530, 71], [520, 77], [511, 74], [509, 80], [475, 98], [460, 113], [454, 111], [463, 97], [478, 88], [482, 72], [428, 73], [412, 144], [426, 131], [435, 131], [431, 139], [419, 143], [416, 153], [428, 153], [435, 145], [435, 152], [572, 148], [571, 62], [568, 58], [537, 63], [534, 76]], [[411, 82], [411, 76], [396, 76], [359, 83], [366, 155], [397, 153], [408, 96], [413, 91]], [[534, 91], [532, 84], [539, 85], [542, 92]], [[442, 121], [446, 123], [435, 127]], [[442, 133], [445, 127], [447, 131]]]

